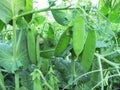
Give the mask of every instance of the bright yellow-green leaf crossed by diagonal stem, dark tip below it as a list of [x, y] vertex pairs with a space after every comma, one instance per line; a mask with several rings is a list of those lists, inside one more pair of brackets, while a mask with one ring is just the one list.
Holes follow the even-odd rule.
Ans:
[[[33, 10], [33, 0], [26, 0], [26, 7], [24, 12], [29, 12], [32, 10]], [[24, 18], [27, 22], [30, 22], [32, 19], [32, 14], [25, 15]]]

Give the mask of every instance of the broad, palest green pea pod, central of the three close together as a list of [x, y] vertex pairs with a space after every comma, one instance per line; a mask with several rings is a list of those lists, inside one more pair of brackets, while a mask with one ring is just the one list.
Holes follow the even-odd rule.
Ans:
[[85, 41], [85, 20], [79, 13], [75, 14], [73, 24], [73, 50], [78, 57], [83, 50]]

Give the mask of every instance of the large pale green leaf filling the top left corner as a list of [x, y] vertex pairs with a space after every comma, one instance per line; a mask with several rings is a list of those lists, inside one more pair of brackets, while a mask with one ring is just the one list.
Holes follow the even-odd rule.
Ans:
[[24, 7], [25, 0], [0, 0], [0, 20], [7, 24]]

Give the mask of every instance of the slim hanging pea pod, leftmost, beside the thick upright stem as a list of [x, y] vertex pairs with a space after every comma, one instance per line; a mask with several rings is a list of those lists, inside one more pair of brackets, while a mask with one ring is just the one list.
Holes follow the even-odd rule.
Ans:
[[35, 36], [32, 29], [29, 29], [27, 32], [27, 45], [29, 58], [33, 64], [36, 64]]

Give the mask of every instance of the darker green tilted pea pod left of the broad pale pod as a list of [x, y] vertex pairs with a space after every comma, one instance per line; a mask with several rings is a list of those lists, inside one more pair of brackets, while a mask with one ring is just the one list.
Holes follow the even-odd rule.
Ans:
[[55, 48], [55, 56], [61, 56], [61, 54], [66, 50], [66, 48], [68, 47], [69, 43], [70, 43], [70, 34], [69, 34], [69, 30], [71, 27], [69, 27], [68, 29], [66, 29], [63, 34], [61, 35], [58, 44]]

